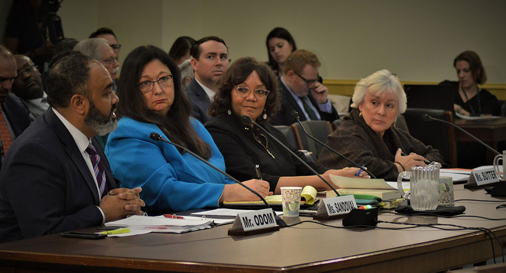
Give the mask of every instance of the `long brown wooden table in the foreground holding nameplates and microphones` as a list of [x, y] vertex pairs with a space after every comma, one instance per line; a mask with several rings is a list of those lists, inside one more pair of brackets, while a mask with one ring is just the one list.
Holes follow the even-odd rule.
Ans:
[[[457, 199], [496, 200], [483, 189], [455, 185]], [[506, 199], [502, 199], [506, 200]], [[499, 202], [462, 201], [467, 215], [506, 218]], [[301, 217], [301, 220], [310, 218]], [[506, 221], [476, 218], [405, 217], [380, 214], [379, 220], [448, 223], [492, 229], [506, 247]], [[297, 221], [297, 220], [296, 220]], [[341, 220], [325, 221], [341, 226]], [[380, 227], [399, 227], [379, 223]], [[330, 228], [302, 223], [249, 237], [227, 236], [231, 225], [181, 235], [149, 233], [134, 237], [83, 240], [50, 235], [0, 244], [0, 271], [151, 272], [151, 271], [361, 271], [430, 272], [492, 258], [488, 237], [480, 231], [443, 231], [430, 227], [404, 230]], [[94, 228], [88, 230], [95, 230]], [[18, 272], [18, 271], [17, 271]]]

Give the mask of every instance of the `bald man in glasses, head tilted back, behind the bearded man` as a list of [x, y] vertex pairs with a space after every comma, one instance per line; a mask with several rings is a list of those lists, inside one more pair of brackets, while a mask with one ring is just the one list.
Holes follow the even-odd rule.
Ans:
[[18, 76], [12, 84], [12, 92], [24, 101], [30, 111], [30, 120], [49, 109], [46, 92], [42, 86], [40, 72], [32, 60], [25, 55], [14, 55]]

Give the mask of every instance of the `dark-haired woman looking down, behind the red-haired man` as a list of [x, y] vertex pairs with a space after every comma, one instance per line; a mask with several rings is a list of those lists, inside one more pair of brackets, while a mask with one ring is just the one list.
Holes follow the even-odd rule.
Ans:
[[284, 67], [288, 56], [297, 50], [290, 32], [282, 27], [276, 27], [267, 35], [265, 44], [269, 55], [267, 64], [274, 70], [277, 77], [284, 75]]

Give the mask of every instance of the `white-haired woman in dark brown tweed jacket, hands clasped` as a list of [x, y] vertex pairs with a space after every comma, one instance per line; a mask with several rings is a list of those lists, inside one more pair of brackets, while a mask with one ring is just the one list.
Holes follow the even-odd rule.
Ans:
[[[364, 165], [377, 178], [390, 181], [399, 172], [425, 166], [424, 160], [444, 163], [437, 149], [395, 128], [395, 119], [406, 110], [406, 94], [390, 71], [379, 70], [360, 80], [352, 100], [354, 109], [328, 137], [330, 147]], [[326, 148], [318, 164], [333, 169], [349, 165]]]

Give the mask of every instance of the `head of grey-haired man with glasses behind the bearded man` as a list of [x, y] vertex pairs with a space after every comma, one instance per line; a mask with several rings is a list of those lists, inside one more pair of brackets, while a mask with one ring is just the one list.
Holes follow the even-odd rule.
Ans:
[[113, 81], [112, 92], [116, 93], [119, 63], [117, 55], [114, 53], [113, 48], [109, 46], [107, 40], [104, 38], [82, 40], [75, 45], [74, 50], [101, 62], [105, 66]]

